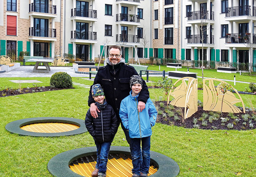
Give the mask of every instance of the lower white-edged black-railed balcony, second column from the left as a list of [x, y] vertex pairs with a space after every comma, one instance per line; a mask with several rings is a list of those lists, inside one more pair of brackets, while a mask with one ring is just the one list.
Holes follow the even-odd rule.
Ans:
[[97, 32], [71, 31], [71, 42], [97, 43]]

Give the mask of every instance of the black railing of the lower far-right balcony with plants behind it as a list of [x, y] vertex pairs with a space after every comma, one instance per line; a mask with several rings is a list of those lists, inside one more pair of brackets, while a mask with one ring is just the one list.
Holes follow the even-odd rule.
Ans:
[[251, 43], [251, 33], [227, 33], [225, 39], [226, 43]]

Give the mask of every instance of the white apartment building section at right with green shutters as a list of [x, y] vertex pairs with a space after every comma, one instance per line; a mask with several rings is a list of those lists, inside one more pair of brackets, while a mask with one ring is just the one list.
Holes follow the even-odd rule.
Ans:
[[181, 59], [256, 63], [255, 2], [181, 1]]

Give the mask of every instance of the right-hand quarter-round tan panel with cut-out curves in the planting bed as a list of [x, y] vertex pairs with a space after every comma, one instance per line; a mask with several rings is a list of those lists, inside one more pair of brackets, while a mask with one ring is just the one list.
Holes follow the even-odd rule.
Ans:
[[[209, 81], [209, 85], [206, 85], [206, 81]], [[215, 88], [214, 86], [214, 81], [220, 82], [217, 87]], [[243, 105], [243, 110], [245, 113], [244, 109], [244, 102], [237, 92], [235, 88], [232, 89], [236, 92], [238, 95], [239, 99], [236, 98], [236, 96], [230, 92], [227, 91], [225, 94], [222, 93], [221, 91], [221, 83], [228, 84], [225, 81], [221, 81], [219, 79], [204, 79], [203, 84], [204, 84], [204, 110], [208, 111], [221, 111], [221, 103], [223, 99], [223, 105], [222, 105], [222, 112], [232, 112], [232, 113], [239, 113], [242, 112], [239, 108], [237, 108], [234, 104], [241, 102]], [[229, 85], [229, 84], [228, 84]]]

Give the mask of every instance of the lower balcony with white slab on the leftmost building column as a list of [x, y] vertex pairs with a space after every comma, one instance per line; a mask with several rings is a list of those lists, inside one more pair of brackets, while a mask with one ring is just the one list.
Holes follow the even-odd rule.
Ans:
[[31, 27], [28, 39], [56, 41], [56, 29]]

